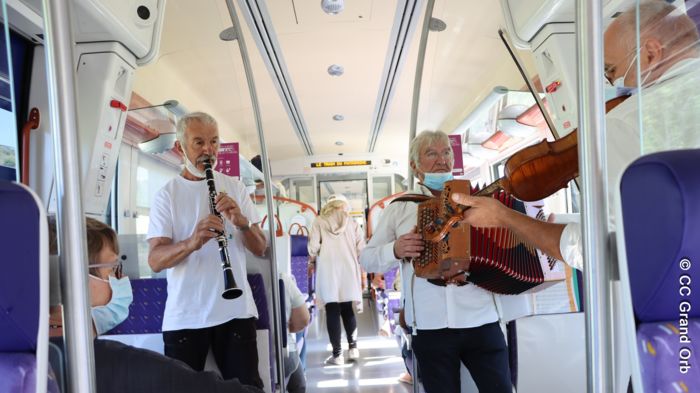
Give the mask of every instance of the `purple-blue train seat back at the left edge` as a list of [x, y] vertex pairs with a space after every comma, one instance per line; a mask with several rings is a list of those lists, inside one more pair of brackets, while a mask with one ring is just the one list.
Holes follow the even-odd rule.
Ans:
[[57, 392], [49, 366], [49, 251], [44, 207], [0, 181], [0, 381], [3, 391]]

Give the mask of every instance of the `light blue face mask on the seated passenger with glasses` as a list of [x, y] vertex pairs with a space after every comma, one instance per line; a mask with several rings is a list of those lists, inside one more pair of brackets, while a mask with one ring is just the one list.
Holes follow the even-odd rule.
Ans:
[[[99, 279], [99, 278], [98, 278]], [[95, 322], [97, 335], [102, 335], [124, 322], [129, 316], [129, 305], [134, 300], [129, 277], [109, 276], [112, 298], [104, 306], [92, 308], [92, 320]]]

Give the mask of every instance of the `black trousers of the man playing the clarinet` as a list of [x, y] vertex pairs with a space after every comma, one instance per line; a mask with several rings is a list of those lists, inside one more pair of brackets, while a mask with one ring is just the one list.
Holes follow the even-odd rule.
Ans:
[[243, 384], [262, 388], [258, 373], [258, 344], [255, 318], [232, 319], [218, 326], [163, 332], [165, 355], [204, 370], [211, 347], [224, 379], [238, 378]]

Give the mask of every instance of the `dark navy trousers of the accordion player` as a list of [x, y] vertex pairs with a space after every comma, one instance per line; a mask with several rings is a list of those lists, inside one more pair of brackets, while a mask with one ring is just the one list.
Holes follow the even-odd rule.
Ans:
[[479, 392], [513, 391], [506, 342], [497, 322], [467, 329], [418, 330], [413, 350], [428, 393], [459, 393], [460, 363]]

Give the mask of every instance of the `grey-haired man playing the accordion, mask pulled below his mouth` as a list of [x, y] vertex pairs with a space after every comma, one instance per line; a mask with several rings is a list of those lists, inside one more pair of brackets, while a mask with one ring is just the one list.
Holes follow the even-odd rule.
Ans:
[[[452, 179], [454, 157], [447, 135], [425, 131], [411, 141], [409, 160], [420, 180], [416, 194], [439, 195]], [[471, 283], [447, 283], [415, 275], [411, 257], [420, 256], [423, 239], [415, 233], [418, 204], [395, 201], [381, 220], [360, 262], [367, 272], [400, 266], [406, 323], [426, 392], [460, 392], [464, 364], [479, 391], [511, 393], [505, 339], [494, 296]]]

